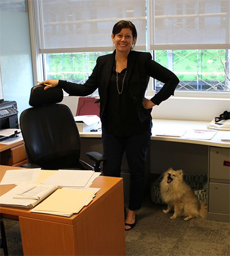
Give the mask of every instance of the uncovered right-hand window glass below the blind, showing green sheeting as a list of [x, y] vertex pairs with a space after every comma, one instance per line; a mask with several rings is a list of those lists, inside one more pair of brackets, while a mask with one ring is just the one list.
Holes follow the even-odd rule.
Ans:
[[[230, 91], [229, 57], [229, 49], [155, 51], [156, 62], [178, 76], [178, 91]], [[156, 91], [161, 87], [156, 81]]]

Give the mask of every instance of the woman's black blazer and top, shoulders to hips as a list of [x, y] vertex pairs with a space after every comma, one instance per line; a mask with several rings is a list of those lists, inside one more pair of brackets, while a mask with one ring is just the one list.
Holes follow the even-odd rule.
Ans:
[[[115, 55], [116, 51], [98, 57], [97, 64], [84, 85], [59, 80], [59, 86], [76, 96], [87, 96], [98, 89], [102, 125], [109, 131], [113, 129], [112, 132], [119, 136], [141, 133], [147, 127], [150, 128], [151, 124], [152, 109], [144, 109], [142, 104], [150, 77], [164, 83], [158, 94], [151, 98], [156, 105], [174, 94], [179, 79], [173, 72], [152, 60], [149, 52], [131, 51], [127, 60], [124, 91], [119, 95], [114, 72]], [[120, 85], [123, 72], [125, 70], [119, 75]], [[117, 100], [119, 96], [121, 97]]]

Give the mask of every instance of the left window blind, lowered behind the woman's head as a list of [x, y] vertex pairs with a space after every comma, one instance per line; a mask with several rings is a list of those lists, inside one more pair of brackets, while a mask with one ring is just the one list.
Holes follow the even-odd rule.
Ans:
[[41, 54], [111, 51], [112, 28], [120, 20], [135, 24], [136, 49], [145, 49], [145, 0], [41, 0], [34, 8]]

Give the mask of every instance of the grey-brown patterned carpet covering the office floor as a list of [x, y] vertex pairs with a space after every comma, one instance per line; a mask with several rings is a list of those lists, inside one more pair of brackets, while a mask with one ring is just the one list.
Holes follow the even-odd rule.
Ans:
[[[229, 223], [200, 218], [186, 222], [182, 217], [170, 220], [170, 215], [162, 213], [165, 207], [145, 196], [136, 227], [125, 232], [127, 255], [230, 255]], [[18, 221], [3, 220], [9, 255], [23, 255]]]

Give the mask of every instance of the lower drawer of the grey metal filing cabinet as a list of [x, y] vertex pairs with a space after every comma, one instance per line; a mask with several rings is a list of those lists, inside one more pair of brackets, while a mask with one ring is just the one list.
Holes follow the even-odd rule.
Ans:
[[230, 185], [212, 183], [209, 184], [209, 212], [230, 214]]

